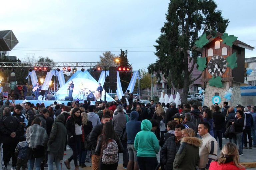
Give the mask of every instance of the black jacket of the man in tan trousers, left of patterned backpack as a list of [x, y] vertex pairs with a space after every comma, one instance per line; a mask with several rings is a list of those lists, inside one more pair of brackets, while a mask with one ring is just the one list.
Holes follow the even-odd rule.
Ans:
[[91, 154], [94, 154], [94, 155], [96, 154], [95, 153], [95, 148], [96, 148], [96, 145], [97, 145], [98, 136], [102, 132], [103, 125], [104, 124], [94, 126], [92, 128], [91, 133], [89, 134], [88, 142], [91, 145]]

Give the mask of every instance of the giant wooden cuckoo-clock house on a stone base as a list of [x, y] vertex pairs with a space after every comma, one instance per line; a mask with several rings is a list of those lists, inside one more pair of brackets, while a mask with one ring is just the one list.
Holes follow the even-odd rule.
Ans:
[[[242, 104], [241, 101], [241, 90], [240, 84], [244, 83], [244, 61], [245, 61], [245, 49], [253, 50], [254, 47], [235, 40], [232, 46], [222, 43], [223, 34], [217, 32], [216, 37], [212, 35], [207, 36], [209, 40], [202, 48], [195, 47], [194, 49], [202, 52], [202, 57], [206, 57], [206, 68], [202, 72], [200, 82], [202, 87], [205, 89], [204, 105], [213, 105], [212, 97], [219, 96], [221, 98], [221, 104], [226, 101], [224, 93], [233, 88], [233, 95], [229, 102], [229, 105], [236, 106]], [[236, 53], [237, 56], [237, 67], [231, 69], [228, 67], [227, 57]], [[220, 76], [223, 87], [212, 87], [209, 85], [209, 80], [212, 77]]]

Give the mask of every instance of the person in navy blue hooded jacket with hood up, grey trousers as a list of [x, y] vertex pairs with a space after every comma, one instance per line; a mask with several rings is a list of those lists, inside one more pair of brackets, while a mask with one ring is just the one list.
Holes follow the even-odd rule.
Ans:
[[[127, 165], [127, 169], [138, 170], [139, 165], [137, 162], [137, 151], [134, 148], [134, 140], [136, 134], [141, 131], [141, 122], [138, 121], [139, 113], [136, 111], [132, 111], [130, 114], [130, 121], [126, 123], [126, 133], [127, 133], [127, 144], [128, 144], [128, 152], [129, 152], [129, 162]], [[133, 167], [134, 163], [134, 167]], [[133, 168], [132, 168], [133, 167]]]

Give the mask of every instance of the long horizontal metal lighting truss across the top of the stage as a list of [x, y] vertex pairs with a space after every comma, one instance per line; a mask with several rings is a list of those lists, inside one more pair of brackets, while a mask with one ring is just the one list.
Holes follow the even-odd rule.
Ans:
[[119, 62], [0, 62], [0, 67], [115, 67], [119, 65]]

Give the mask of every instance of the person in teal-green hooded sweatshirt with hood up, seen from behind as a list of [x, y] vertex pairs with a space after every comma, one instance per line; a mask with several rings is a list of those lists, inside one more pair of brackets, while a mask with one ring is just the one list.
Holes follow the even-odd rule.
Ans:
[[158, 164], [156, 154], [159, 151], [159, 141], [151, 131], [152, 124], [149, 120], [141, 122], [141, 131], [134, 140], [134, 148], [137, 151], [137, 161], [140, 170], [155, 170]]

